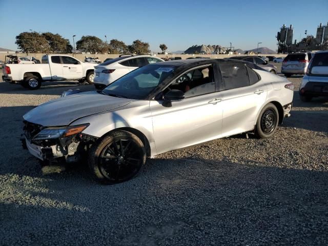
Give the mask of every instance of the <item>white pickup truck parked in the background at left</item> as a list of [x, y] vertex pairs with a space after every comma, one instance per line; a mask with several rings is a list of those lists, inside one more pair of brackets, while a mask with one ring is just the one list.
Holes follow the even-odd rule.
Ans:
[[30, 90], [40, 88], [42, 81], [87, 80], [93, 84], [96, 65], [68, 55], [44, 55], [41, 64], [5, 64], [2, 79]]

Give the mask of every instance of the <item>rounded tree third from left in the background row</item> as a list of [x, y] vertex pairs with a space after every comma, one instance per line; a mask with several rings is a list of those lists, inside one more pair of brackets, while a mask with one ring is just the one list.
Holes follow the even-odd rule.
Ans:
[[99, 37], [96, 36], [82, 36], [80, 40], [76, 42], [76, 49], [83, 52], [105, 52], [106, 44]]

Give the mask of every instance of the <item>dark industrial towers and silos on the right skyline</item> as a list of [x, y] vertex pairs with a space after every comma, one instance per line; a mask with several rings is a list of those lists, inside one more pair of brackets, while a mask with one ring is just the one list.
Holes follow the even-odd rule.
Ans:
[[[307, 30], [305, 30], [305, 35], [306, 34]], [[294, 29], [292, 25], [290, 25], [290, 27], [283, 25], [280, 28], [280, 32], [277, 33], [278, 54], [328, 49], [328, 23], [325, 26], [322, 26], [322, 23], [320, 23], [317, 28], [316, 37], [307, 35], [298, 43], [295, 39], [293, 44], [293, 35]]]

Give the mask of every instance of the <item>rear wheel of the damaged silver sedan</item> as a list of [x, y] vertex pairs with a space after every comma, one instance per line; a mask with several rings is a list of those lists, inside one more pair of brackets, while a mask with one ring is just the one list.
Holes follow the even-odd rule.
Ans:
[[277, 130], [279, 122], [278, 109], [274, 104], [267, 104], [261, 110], [256, 122], [255, 133], [259, 138], [269, 138]]

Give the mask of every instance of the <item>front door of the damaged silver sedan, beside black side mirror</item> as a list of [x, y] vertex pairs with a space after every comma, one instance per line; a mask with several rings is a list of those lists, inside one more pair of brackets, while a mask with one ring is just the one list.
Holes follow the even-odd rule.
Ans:
[[[172, 101], [170, 107], [165, 100], [151, 100], [153, 131], [157, 153], [183, 148], [200, 142], [219, 138], [222, 124], [221, 92], [216, 92], [217, 82], [213, 76], [213, 67], [201, 67], [204, 74], [212, 70], [207, 77], [193, 79], [191, 70], [185, 75], [191, 83], [175, 80], [170, 90], [189, 88], [185, 99]], [[181, 76], [182, 78], [186, 76]], [[180, 77], [180, 78], [181, 78]], [[192, 84], [192, 85], [191, 85]], [[167, 93], [168, 89], [164, 91]]]

